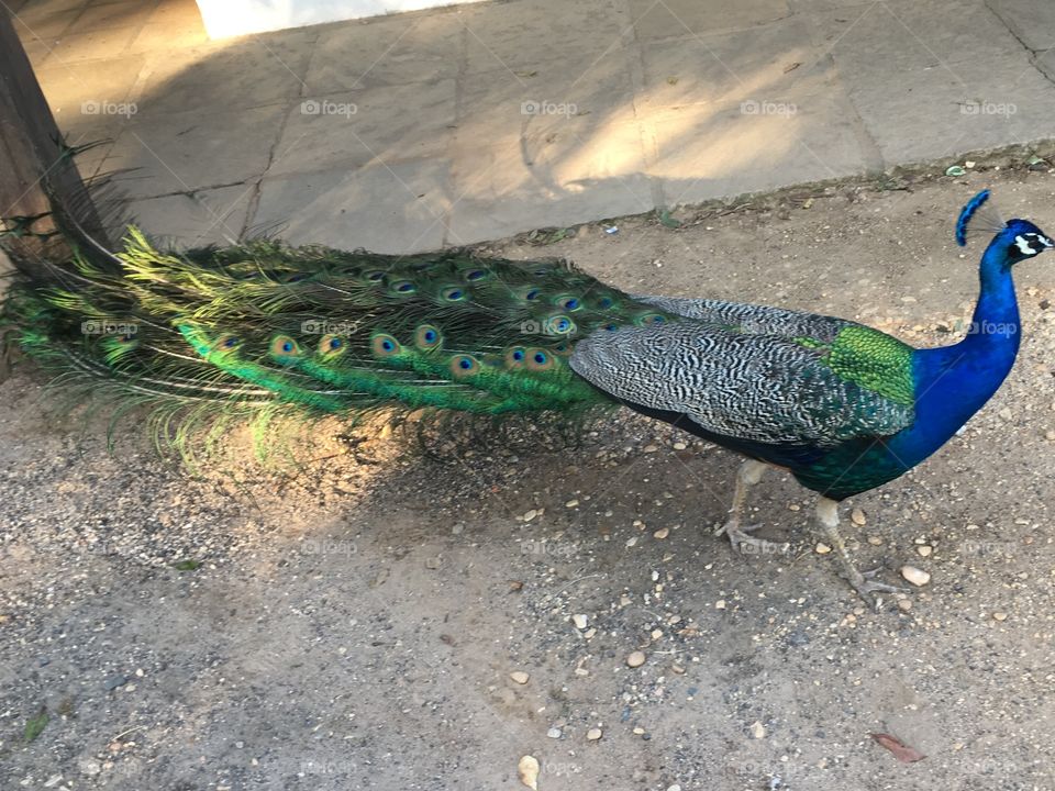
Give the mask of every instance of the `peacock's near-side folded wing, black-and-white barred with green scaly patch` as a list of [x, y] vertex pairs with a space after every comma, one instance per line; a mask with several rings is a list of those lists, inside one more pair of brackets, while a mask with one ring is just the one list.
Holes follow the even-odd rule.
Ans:
[[571, 367], [609, 394], [742, 441], [834, 447], [914, 419], [912, 348], [852, 324], [824, 341], [698, 322], [599, 332]]

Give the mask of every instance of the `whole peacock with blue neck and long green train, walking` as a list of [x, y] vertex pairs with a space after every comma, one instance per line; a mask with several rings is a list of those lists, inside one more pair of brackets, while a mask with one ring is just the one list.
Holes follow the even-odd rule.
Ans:
[[742, 552], [771, 546], [741, 523], [763, 470], [815, 491], [815, 523], [867, 600], [896, 588], [855, 567], [839, 503], [923, 461], [996, 392], [1019, 348], [1011, 269], [1052, 246], [1026, 220], [985, 224], [988, 199], [956, 223], [959, 245], [968, 227], [993, 234], [971, 328], [941, 348], [834, 316], [631, 294], [560, 260], [271, 238], [178, 253], [134, 226], [110, 252], [57, 211], [71, 259], [16, 260], [4, 312], [59, 386], [148, 405], [177, 443], [286, 412], [626, 406], [745, 457], [720, 531]]

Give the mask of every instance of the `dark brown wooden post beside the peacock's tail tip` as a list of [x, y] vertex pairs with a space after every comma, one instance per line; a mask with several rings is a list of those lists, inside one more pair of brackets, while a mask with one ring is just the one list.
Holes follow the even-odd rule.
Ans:
[[[62, 133], [30, 58], [15, 35], [10, 15], [0, 10], [0, 219], [32, 218], [48, 212], [48, 194], [106, 244], [98, 213], [73, 157], [64, 149]], [[34, 233], [48, 233], [54, 229], [48, 216], [31, 226]], [[44, 243], [34, 236], [7, 235], [0, 237], [0, 242], [12, 256], [29, 265], [45, 253], [55, 256], [69, 252], [58, 237]]]

